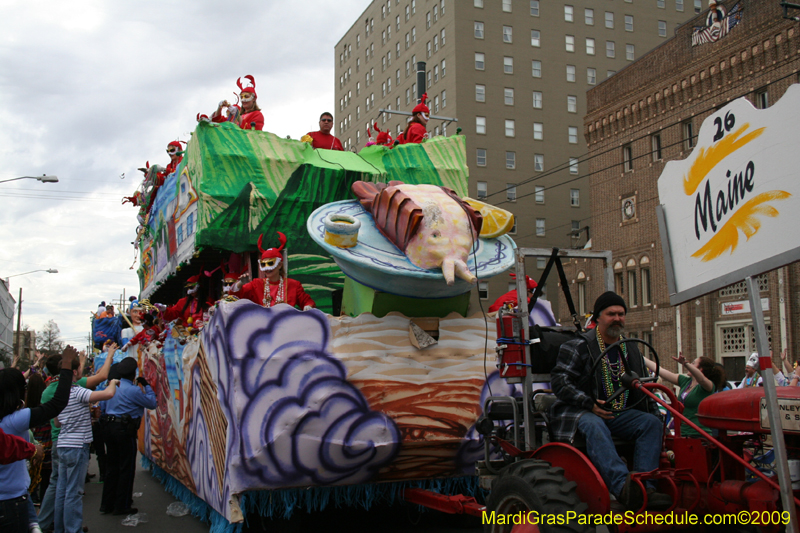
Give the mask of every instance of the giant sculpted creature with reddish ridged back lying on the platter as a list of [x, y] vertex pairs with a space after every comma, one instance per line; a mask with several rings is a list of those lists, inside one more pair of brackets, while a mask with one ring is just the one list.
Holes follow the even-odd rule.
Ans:
[[441, 268], [448, 285], [458, 276], [470, 283], [477, 278], [467, 259], [478, 240], [483, 218], [452, 189], [437, 185], [408, 185], [401, 181], [352, 186], [375, 226], [414, 265]]

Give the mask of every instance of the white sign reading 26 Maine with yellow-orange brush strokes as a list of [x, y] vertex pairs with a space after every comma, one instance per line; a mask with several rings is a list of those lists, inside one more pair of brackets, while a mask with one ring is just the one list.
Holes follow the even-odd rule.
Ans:
[[[709, 115], [658, 179], [670, 303], [800, 260], [800, 85]], [[667, 238], [668, 237], [668, 238]]]

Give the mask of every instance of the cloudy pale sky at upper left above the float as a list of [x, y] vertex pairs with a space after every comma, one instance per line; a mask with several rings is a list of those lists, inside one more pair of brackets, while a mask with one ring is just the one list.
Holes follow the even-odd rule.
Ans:
[[[369, 0], [0, 0], [0, 277], [22, 322], [86, 346], [90, 311], [139, 288], [136, 169], [255, 76], [265, 130], [334, 111], [334, 46]], [[131, 269], [133, 267], [133, 269]], [[14, 318], [16, 321], [16, 316]], [[16, 326], [15, 326], [16, 327]]]

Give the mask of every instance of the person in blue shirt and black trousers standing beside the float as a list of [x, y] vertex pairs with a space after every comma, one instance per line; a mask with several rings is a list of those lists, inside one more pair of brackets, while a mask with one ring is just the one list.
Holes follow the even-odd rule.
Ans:
[[[106, 438], [106, 475], [100, 512], [129, 515], [136, 471], [136, 433], [144, 409], [156, 408], [156, 394], [144, 377], [136, 378], [136, 359], [127, 357], [111, 367], [109, 379], [120, 380], [117, 394], [105, 404], [100, 423]], [[134, 383], [134, 380], [136, 381]]]

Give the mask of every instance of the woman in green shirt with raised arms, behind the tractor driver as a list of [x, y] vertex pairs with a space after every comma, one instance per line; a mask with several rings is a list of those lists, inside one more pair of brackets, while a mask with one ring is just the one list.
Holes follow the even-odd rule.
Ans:
[[[662, 366], [659, 369], [659, 377], [680, 387], [678, 399], [683, 403], [683, 416], [710, 434], [711, 430], [700, 424], [697, 418], [697, 408], [701, 401], [714, 394], [722, 385], [722, 373], [717, 368], [714, 360], [709, 357], [698, 357], [689, 362], [681, 353], [678, 357], [673, 357], [672, 359], [683, 366], [683, 369], [689, 375], [676, 374]], [[655, 372], [656, 363], [654, 361], [645, 359], [644, 362], [651, 372]], [[683, 424], [681, 426], [681, 436], [700, 437], [700, 433], [688, 424]]]

